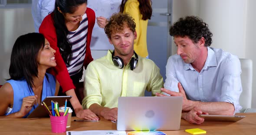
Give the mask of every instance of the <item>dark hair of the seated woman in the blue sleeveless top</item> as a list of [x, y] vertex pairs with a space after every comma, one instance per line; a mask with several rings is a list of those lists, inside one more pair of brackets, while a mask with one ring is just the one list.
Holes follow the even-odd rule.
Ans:
[[28, 33], [18, 37], [13, 45], [9, 68], [10, 79], [25, 79], [30, 89], [34, 86], [33, 78], [38, 77], [37, 55], [43, 49], [45, 38], [40, 33]]

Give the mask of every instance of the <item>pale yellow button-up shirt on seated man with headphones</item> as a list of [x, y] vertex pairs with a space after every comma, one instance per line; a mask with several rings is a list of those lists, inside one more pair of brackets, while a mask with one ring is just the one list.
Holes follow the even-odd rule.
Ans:
[[114, 108], [118, 107], [119, 96], [144, 96], [145, 90], [152, 91], [153, 95], [161, 92], [163, 77], [153, 61], [138, 56], [133, 71], [129, 64], [122, 69], [116, 67], [110, 50], [106, 56], [92, 61], [85, 72], [83, 108], [93, 103]]

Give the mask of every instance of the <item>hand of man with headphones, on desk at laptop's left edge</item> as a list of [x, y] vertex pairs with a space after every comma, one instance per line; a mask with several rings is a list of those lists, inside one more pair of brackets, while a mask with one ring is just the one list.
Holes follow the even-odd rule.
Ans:
[[116, 121], [117, 120], [117, 110], [118, 110], [117, 107], [112, 108], [112, 109], [105, 107], [104, 109], [102, 109], [101, 116], [103, 116], [104, 119]]

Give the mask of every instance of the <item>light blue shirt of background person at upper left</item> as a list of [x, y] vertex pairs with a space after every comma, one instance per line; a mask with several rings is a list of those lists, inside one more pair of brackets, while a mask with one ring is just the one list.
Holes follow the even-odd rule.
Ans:
[[31, 13], [34, 19], [35, 32], [39, 32], [39, 27], [43, 19], [53, 12], [55, 0], [32, 0]]

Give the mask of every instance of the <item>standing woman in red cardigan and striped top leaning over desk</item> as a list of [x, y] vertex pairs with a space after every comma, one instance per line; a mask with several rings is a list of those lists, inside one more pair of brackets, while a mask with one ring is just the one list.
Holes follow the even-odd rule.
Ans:
[[39, 32], [56, 50], [57, 66], [49, 73], [56, 76], [62, 93], [72, 96], [70, 103], [77, 117], [98, 120], [89, 109], [83, 109], [75, 95], [75, 85], [82, 78], [83, 66], [93, 60], [90, 49], [95, 13], [87, 0], [56, 0], [55, 9], [43, 20]]

